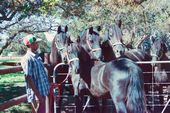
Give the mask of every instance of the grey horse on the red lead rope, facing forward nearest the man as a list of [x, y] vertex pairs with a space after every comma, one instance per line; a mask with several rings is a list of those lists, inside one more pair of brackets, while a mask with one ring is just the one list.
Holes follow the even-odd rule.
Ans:
[[69, 73], [74, 89], [76, 113], [80, 113], [83, 105], [81, 91], [87, 86], [84, 80], [80, 77], [80, 62], [78, 59], [77, 43], [71, 41], [70, 37], [68, 37], [66, 41], [66, 59], [69, 65]]

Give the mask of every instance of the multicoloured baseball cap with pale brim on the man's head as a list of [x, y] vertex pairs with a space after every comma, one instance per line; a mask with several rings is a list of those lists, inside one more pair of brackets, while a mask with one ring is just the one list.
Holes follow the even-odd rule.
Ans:
[[30, 45], [30, 44], [32, 44], [32, 43], [34, 43], [34, 42], [39, 42], [39, 41], [41, 41], [42, 39], [40, 39], [40, 38], [38, 38], [36, 35], [27, 35], [27, 36], [25, 36], [24, 37], [24, 39], [23, 39], [23, 42], [24, 42], [24, 45]]

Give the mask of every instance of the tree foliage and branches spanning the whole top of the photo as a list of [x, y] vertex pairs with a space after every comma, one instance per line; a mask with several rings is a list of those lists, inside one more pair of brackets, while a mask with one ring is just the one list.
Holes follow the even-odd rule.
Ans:
[[[101, 36], [104, 37], [105, 25], [117, 24], [121, 20], [124, 43], [129, 43], [132, 33], [135, 34], [133, 47], [136, 47], [147, 35], [163, 36], [169, 33], [167, 0], [131, 0], [130, 2], [127, 0], [17, 0], [13, 3], [12, 1], [0, 2], [1, 14], [7, 16], [8, 13], [12, 15], [12, 12], [15, 12], [10, 22], [0, 18], [2, 23], [0, 33], [6, 33], [9, 37], [2, 49], [6, 49], [13, 40], [21, 41], [26, 34], [56, 31], [59, 24], [69, 25], [69, 34], [76, 39], [85, 28], [98, 25], [102, 26]], [[49, 50], [43, 49], [43, 51]]]

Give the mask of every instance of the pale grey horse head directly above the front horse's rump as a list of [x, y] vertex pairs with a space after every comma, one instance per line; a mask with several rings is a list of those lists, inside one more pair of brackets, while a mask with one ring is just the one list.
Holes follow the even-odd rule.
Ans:
[[123, 47], [122, 32], [118, 25], [112, 24], [106, 25], [105, 40], [108, 40], [116, 58], [121, 57], [124, 54], [125, 48]]

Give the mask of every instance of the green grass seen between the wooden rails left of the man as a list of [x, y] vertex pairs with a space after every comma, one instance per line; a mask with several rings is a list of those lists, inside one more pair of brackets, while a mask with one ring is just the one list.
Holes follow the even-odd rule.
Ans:
[[[20, 62], [18, 59], [0, 60], [0, 62]], [[0, 65], [0, 68], [9, 66]], [[11, 66], [10, 66], [11, 67]], [[26, 94], [25, 77], [23, 72], [9, 73], [0, 75], [0, 103], [12, 98]], [[21, 103], [10, 107], [0, 113], [30, 113], [31, 107], [28, 103]]]

